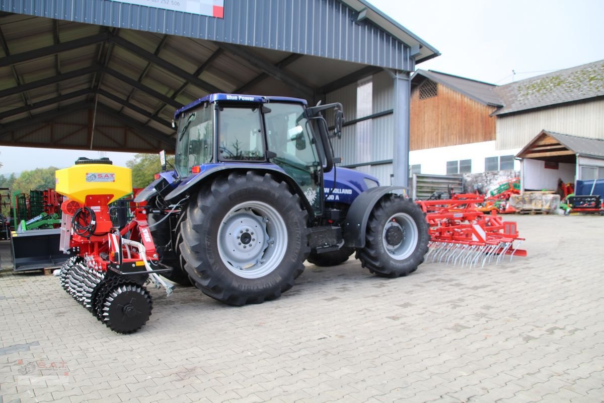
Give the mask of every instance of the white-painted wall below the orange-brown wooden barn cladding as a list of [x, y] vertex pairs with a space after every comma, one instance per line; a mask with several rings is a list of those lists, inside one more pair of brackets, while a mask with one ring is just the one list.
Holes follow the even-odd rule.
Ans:
[[[521, 149], [496, 149], [495, 141], [461, 144], [411, 151], [411, 165], [421, 164], [422, 173], [446, 175], [447, 161], [472, 160], [472, 173], [484, 172], [484, 158], [489, 156], [516, 155]], [[514, 169], [520, 170], [520, 161], [514, 161]]]

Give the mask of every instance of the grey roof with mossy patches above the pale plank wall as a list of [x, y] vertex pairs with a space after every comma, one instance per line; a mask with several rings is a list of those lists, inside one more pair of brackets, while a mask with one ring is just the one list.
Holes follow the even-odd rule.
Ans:
[[495, 88], [503, 115], [604, 96], [604, 60], [509, 83]]

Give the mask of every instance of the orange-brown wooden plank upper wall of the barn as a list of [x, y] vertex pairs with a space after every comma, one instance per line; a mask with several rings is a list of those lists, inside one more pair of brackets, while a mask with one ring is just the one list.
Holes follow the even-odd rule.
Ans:
[[495, 140], [492, 106], [438, 85], [438, 95], [420, 100], [419, 87], [411, 91], [411, 150], [457, 146]]

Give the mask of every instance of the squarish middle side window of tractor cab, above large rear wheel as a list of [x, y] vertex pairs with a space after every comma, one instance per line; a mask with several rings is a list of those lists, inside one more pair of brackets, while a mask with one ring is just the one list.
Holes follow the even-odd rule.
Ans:
[[221, 161], [264, 161], [260, 108], [222, 106], [218, 114]]

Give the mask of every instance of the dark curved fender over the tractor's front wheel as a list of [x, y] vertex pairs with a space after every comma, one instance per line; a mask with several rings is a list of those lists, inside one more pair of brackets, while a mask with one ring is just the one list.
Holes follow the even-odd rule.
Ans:
[[409, 188], [404, 186], [378, 186], [361, 193], [350, 205], [342, 224], [344, 245], [351, 248], [364, 248], [367, 221], [369, 221], [373, 207], [382, 197], [390, 193], [407, 197], [408, 190]]

